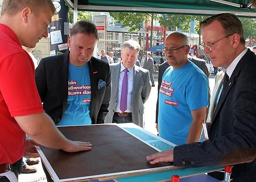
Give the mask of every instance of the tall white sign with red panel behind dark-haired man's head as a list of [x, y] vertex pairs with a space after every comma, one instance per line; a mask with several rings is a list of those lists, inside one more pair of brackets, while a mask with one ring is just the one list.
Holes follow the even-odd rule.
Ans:
[[99, 36], [99, 42], [97, 46], [99, 51], [98, 53], [100, 55], [100, 51], [101, 50], [106, 51], [106, 48], [107, 48], [107, 44], [105, 41], [107, 38], [107, 16], [106, 15], [95, 16], [94, 24], [97, 28], [98, 36]]

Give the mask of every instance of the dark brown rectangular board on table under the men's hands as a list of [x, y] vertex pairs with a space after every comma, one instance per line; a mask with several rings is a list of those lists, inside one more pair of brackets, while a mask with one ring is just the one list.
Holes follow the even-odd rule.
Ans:
[[[115, 178], [153, 172], [159, 167], [173, 167], [169, 162], [151, 165], [146, 156], [157, 153], [157, 150], [115, 125], [70, 126], [59, 127], [59, 130], [70, 140], [93, 144], [90, 151], [77, 153], [40, 147], [60, 180]], [[50, 169], [47, 163], [46, 167]]]

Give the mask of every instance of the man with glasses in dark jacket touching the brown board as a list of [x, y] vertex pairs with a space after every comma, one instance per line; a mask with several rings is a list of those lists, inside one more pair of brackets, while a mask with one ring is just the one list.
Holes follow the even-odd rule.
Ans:
[[255, 181], [256, 55], [245, 48], [243, 25], [234, 14], [214, 15], [200, 27], [204, 52], [214, 66], [227, 69], [209, 140], [175, 146], [147, 160], [151, 164], [173, 161], [174, 166], [184, 167], [233, 165], [232, 182]]

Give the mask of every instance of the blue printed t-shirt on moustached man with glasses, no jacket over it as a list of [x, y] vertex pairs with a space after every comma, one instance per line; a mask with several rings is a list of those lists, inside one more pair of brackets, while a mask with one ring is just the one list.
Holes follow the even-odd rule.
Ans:
[[191, 111], [208, 105], [208, 78], [189, 61], [180, 69], [166, 69], [162, 80], [159, 89], [159, 136], [176, 145], [185, 144], [193, 121]]

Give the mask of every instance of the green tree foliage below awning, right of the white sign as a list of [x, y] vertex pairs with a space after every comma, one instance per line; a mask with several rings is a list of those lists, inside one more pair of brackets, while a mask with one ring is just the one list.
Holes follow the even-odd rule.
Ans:
[[[195, 21], [194, 30], [199, 35], [199, 43], [201, 42], [202, 30], [199, 23], [209, 16], [202, 15], [171, 15], [171, 14], [149, 14], [149, 13], [110, 13], [116, 23], [123, 23], [122, 27], [131, 27], [129, 31], [140, 30], [143, 21], [158, 19], [161, 26], [165, 28], [176, 29], [182, 31], [190, 29], [190, 22]], [[254, 18], [239, 18], [243, 24], [245, 38], [256, 38], [256, 19]], [[152, 37], [150, 37], [152, 39]]]

